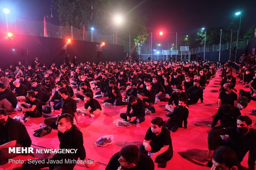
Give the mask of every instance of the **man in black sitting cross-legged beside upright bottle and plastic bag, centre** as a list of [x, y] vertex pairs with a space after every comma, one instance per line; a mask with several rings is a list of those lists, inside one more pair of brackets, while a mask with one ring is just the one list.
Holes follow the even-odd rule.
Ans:
[[[130, 113], [130, 110], [133, 109], [133, 112]], [[121, 113], [120, 117], [125, 119], [130, 123], [137, 123], [137, 119], [140, 120], [140, 123], [145, 121], [145, 104], [142, 100], [136, 99], [134, 95], [128, 97], [128, 106], [126, 113]]]

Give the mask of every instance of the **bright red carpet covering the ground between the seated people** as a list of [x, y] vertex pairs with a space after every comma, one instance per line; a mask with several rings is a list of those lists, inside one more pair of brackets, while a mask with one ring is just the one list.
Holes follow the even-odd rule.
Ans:
[[[168, 161], [166, 169], [210, 169], [205, 166], [207, 161], [209, 161], [206, 159], [206, 153], [208, 150], [207, 132], [210, 130], [210, 128], [207, 128], [206, 125], [211, 123], [212, 116], [217, 112], [218, 109], [218, 89], [220, 88], [219, 83], [221, 79], [219, 75], [220, 69], [216, 74], [216, 78], [212, 79], [209, 85], [206, 87], [204, 92], [204, 103], [190, 105], [187, 124], [188, 128], [179, 128], [175, 133], [171, 133], [174, 154], [171, 161]], [[248, 88], [244, 88], [240, 83], [237, 83], [236, 89], [244, 89], [245, 91], [248, 91]], [[105, 98], [99, 99], [100, 103], [102, 103], [104, 99]], [[161, 116], [164, 120], [168, 119], [165, 116], [167, 113], [167, 110], [164, 107], [166, 103], [167, 102], [160, 102], [158, 105], [155, 105], [156, 113], [146, 115], [145, 122], [141, 123], [139, 128], [136, 126], [131, 126], [130, 128], [118, 128], [113, 124], [114, 120], [120, 119], [120, 113], [126, 112], [125, 106], [117, 106], [115, 109], [107, 109], [102, 107], [103, 110], [101, 115], [95, 116], [94, 119], [89, 118], [88, 116], [86, 116], [84, 119], [80, 119], [81, 124], [76, 126], [83, 133], [84, 147], [87, 158], [92, 158], [95, 161], [100, 161], [101, 163], [107, 164], [111, 156], [120, 151], [121, 147], [125, 146], [126, 144], [136, 144], [139, 147], [142, 144], [147, 129], [151, 125], [150, 121], [152, 118], [155, 116]], [[247, 108], [241, 110], [242, 115], [247, 115], [253, 120], [253, 128], [255, 128], [256, 116], [251, 115], [250, 109], [256, 109], [255, 106], [255, 101], [251, 101]], [[83, 109], [83, 103], [78, 103], [78, 108]], [[10, 114], [10, 116], [13, 118], [17, 114], [19, 114], [19, 111], [17, 113], [14, 112], [13, 114]], [[44, 137], [33, 137], [33, 130], [39, 128], [39, 123], [43, 122], [44, 118], [41, 117], [30, 119], [30, 121], [25, 123], [25, 126], [29, 135], [31, 136], [32, 144], [38, 144], [43, 147], [58, 149], [59, 140], [57, 137], [57, 130], [53, 129], [49, 135]], [[94, 142], [103, 135], [114, 135], [114, 143], [106, 147], [96, 147]], [[32, 147], [39, 148], [35, 146]], [[28, 158], [37, 159], [51, 157], [52, 155], [49, 154], [35, 154], [29, 156], [17, 156], [14, 159], [27, 160]], [[242, 161], [242, 165], [245, 167], [248, 167], [247, 160], [248, 153]], [[21, 167], [21, 164], [7, 163], [0, 166], [0, 169], [12, 170], [13, 168], [17, 167]], [[85, 168], [85, 166], [76, 165], [74, 169], [78, 170], [81, 168]], [[105, 166], [97, 165], [96, 167], [90, 169], [104, 170]], [[163, 168], [157, 168], [157, 163], [155, 163], [155, 169], [160, 170]]]

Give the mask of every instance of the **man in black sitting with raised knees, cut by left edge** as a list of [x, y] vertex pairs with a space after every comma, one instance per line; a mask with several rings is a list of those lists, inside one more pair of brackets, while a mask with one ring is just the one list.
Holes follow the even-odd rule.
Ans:
[[4, 108], [7, 112], [11, 112], [17, 106], [16, 95], [0, 83], [0, 108]]

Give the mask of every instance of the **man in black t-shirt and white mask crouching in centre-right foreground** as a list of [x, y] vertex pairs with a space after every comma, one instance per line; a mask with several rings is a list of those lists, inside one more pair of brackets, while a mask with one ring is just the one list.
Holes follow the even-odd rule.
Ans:
[[158, 164], [159, 168], [166, 168], [167, 161], [173, 157], [173, 146], [170, 131], [163, 128], [163, 119], [155, 117], [151, 121], [151, 128], [147, 130], [143, 144], [140, 146], [142, 154], [151, 151], [152, 161]]

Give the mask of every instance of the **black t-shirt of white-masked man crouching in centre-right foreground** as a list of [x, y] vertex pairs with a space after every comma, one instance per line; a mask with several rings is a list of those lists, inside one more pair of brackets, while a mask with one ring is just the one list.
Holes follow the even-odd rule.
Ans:
[[162, 128], [161, 133], [156, 135], [150, 127], [145, 135], [145, 140], [151, 140], [149, 144], [158, 147], [158, 149], [161, 149], [164, 145], [170, 145], [169, 149], [173, 149], [171, 133], [166, 128]]

